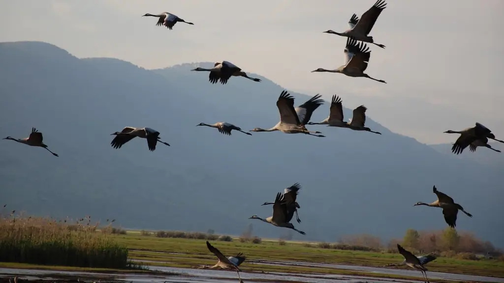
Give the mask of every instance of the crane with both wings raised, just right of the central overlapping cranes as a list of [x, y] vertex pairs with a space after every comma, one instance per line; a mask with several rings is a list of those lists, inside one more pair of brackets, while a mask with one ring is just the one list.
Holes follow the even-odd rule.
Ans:
[[308, 125], [328, 125], [331, 127], [349, 128], [352, 130], [369, 131], [377, 134], [382, 134], [377, 131], [372, 131], [370, 128], [365, 127], [366, 110], [364, 105], [353, 109], [353, 118], [348, 119], [349, 123], [343, 121], [343, 106], [339, 96], [333, 95], [331, 107], [329, 108], [329, 117], [321, 122], [308, 122]]

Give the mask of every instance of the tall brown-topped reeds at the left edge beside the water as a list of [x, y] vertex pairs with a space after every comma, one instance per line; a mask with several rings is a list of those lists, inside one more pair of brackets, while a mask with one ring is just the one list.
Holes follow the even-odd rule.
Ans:
[[[87, 221], [86, 221], [87, 220]], [[128, 249], [97, 233], [90, 219], [0, 219], [0, 261], [95, 268], [134, 268]], [[87, 223], [86, 223], [87, 222]]]

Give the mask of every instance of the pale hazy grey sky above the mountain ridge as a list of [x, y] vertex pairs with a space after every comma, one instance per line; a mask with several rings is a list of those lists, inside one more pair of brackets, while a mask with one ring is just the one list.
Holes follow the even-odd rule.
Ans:
[[[78, 57], [115, 57], [145, 68], [228, 60], [282, 87], [364, 104], [377, 122], [423, 143], [479, 121], [504, 137], [501, 0], [388, 0], [371, 35], [366, 73], [381, 84], [310, 73], [343, 64], [344, 31], [375, 0], [0, 0], [0, 41], [38, 40]], [[499, 12], [500, 11], [500, 12]], [[156, 27], [145, 13], [195, 25]], [[324, 109], [327, 111], [327, 108]]]

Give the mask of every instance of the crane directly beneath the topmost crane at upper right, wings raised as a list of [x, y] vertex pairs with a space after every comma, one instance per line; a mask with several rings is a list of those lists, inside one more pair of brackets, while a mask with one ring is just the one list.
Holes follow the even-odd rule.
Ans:
[[387, 84], [384, 80], [371, 78], [369, 75], [364, 73], [369, 62], [369, 57], [371, 56], [371, 51], [369, 51], [369, 47], [367, 47], [366, 44], [362, 42], [357, 43], [357, 40], [349, 37], [347, 38], [347, 44], [343, 52], [345, 54], [344, 65], [333, 70], [318, 68], [316, 70], [312, 70], [311, 72], [340, 73], [348, 77], [368, 78], [376, 82]]

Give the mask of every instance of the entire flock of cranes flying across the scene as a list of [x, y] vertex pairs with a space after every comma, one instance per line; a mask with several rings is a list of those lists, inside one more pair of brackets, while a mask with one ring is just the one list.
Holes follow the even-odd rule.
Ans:
[[[368, 78], [377, 82], [386, 83], [383, 80], [377, 80], [369, 77], [369, 75], [365, 74], [364, 71], [367, 68], [367, 64], [369, 62], [370, 53], [369, 47], [364, 43], [371, 43], [381, 48], [385, 48], [383, 44], [377, 44], [374, 42], [373, 37], [369, 36], [371, 29], [376, 22], [376, 19], [380, 16], [382, 11], [386, 8], [387, 4], [385, 0], [377, 0], [376, 3], [367, 10], [364, 14], [362, 14], [359, 19], [356, 14], [353, 14], [348, 22], [350, 29], [344, 32], [335, 32], [332, 30], [325, 31], [324, 33], [336, 34], [339, 36], [347, 37], [347, 42], [344, 50], [345, 54], [345, 64], [336, 68], [336, 69], [324, 69], [318, 68], [311, 72], [330, 72], [330, 73], [340, 73], [349, 77], [363, 77]], [[189, 25], [194, 25], [191, 22], [186, 22], [181, 18], [164, 12], [158, 15], [145, 14], [145, 17], [157, 17], [159, 18], [156, 26], [165, 26], [169, 30], [173, 28], [173, 26], [177, 22], [186, 23]], [[360, 41], [360, 42], [359, 42]], [[216, 84], [220, 82], [225, 85], [231, 77], [244, 77], [251, 81], [261, 82], [260, 79], [249, 77], [245, 72], [241, 70], [238, 66], [234, 65], [228, 61], [216, 62], [212, 68], [202, 68], [197, 67], [192, 69], [195, 72], [210, 72], [209, 81], [212, 84]], [[367, 108], [364, 105], [361, 105], [353, 110], [353, 117], [349, 119], [348, 122], [345, 122], [343, 119], [343, 107], [342, 100], [339, 96], [333, 96], [330, 106], [329, 116], [321, 122], [310, 122], [311, 115], [313, 111], [315, 111], [320, 105], [324, 103], [324, 100], [320, 99], [320, 95], [313, 96], [303, 104], [294, 107], [294, 98], [287, 92], [282, 91], [280, 94], [276, 104], [278, 111], [280, 113], [280, 121], [269, 129], [263, 128], [254, 128], [250, 131], [253, 132], [267, 132], [267, 131], [282, 131], [284, 133], [303, 133], [307, 135], [313, 135], [318, 137], [325, 137], [321, 134], [320, 131], [310, 131], [306, 128], [305, 125], [327, 125], [332, 127], [342, 127], [349, 128], [352, 130], [360, 130], [360, 131], [369, 131], [376, 134], [381, 134], [377, 131], [372, 131], [370, 128], [365, 127], [365, 112]], [[251, 133], [241, 130], [240, 127], [237, 127], [231, 123], [227, 122], [218, 122], [215, 124], [206, 124], [200, 123], [197, 126], [208, 126], [217, 128], [219, 132], [231, 135], [231, 131], [240, 131], [247, 135], [251, 135]], [[493, 151], [500, 152], [499, 150], [493, 149], [490, 145], [488, 145], [488, 138], [497, 140], [500, 143], [504, 143], [503, 140], [499, 140], [495, 138], [495, 135], [485, 126], [480, 123], [476, 123], [474, 127], [467, 128], [461, 131], [453, 131], [448, 130], [445, 133], [459, 133], [460, 136], [457, 138], [456, 142], [453, 144], [452, 152], [454, 154], [461, 154], [462, 151], [469, 147], [471, 152], [476, 151], [477, 147], [486, 147]], [[111, 146], [115, 149], [120, 149], [125, 143], [129, 142], [135, 137], [145, 138], [147, 140], [147, 145], [149, 151], [154, 151], [156, 149], [157, 143], [162, 143], [166, 146], [170, 146], [168, 143], [161, 141], [159, 137], [159, 132], [149, 128], [135, 128], [135, 127], [124, 127], [120, 132], [116, 131], [111, 135], [115, 135], [110, 143]], [[34, 147], [42, 147], [49, 151], [52, 155], [58, 156], [54, 152], [50, 151], [45, 145], [42, 137], [42, 133], [37, 129], [32, 128], [32, 132], [26, 138], [13, 138], [8, 136], [4, 139], [15, 140], [18, 143], [22, 143], [28, 146]], [[294, 214], [296, 215], [296, 221], [301, 223], [301, 220], [298, 217], [297, 209], [300, 208], [298, 202], [296, 201], [298, 191], [301, 189], [299, 183], [295, 183], [294, 185], [286, 188], [284, 193], [277, 193], [274, 202], [265, 202], [262, 205], [273, 204], [273, 215], [262, 219], [257, 215], [250, 217], [249, 219], [258, 219], [263, 222], [272, 224], [277, 227], [289, 228], [292, 229], [302, 235], [305, 235], [303, 231], [297, 230], [294, 228], [294, 225], [290, 223]], [[443, 215], [446, 223], [452, 227], [456, 227], [456, 220], [458, 211], [461, 210], [464, 214], [469, 217], [472, 217], [471, 214], [467, 213], [464, 208], [455, 203], [453, 198], [450, 196], [439, 192], [436, 187], [433, 187], [433, 192], [437, 196], [437, 200], [432, 203], [424, 203], [417, 202], [416, 205], [426, 205], [431, 207], [440, 207], [443, 209]], [[220, 267], [223, 269], [235, 269], [236, 271], [241, 271], [238, 266], [245, 260], [245, 257], [242, 256], [241, 253], [234, 257], [225, 257], [217, 248], [213, 247], [207, 241], [208, 249], [217, 256], [219, 261], [214, 266], [202, 266], [201, 268], [216, 268]], [[424, 267], [424, 264], [435, 259], [433, 255], [426, 255], [416, 257], [411, 252], [405, 250], [400, 245], [397, 245], [398, 251], [404, 256], [405, 260], [401, 264], [405, 264], [414, 269], [420, 270], [422, 272], [422, 276], [424, 276], [425, 280], [428, 282], [427, 274], [425, 271], [427, 270]], [[394, 264], [395, 265], [395, 264]], [[238, 272], [238, 277], [239, 272]], [[240, 278], [241, 281], [241, 278]]]

